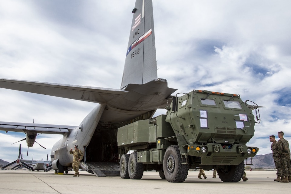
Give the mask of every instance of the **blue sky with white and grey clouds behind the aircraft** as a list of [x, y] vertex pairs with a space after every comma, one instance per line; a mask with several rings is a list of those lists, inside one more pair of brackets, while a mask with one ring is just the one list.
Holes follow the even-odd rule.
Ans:
[[[120, 88], [135, 1], [0, 1], [0, 78]], [[291, 143], [291, 1], [154, 0], [158, 77], [177, 92], [240, 94], [266, 108], [248, 145]], [[94, 103], [0, 89], [0, 121], [79, 125]], [[159, 110], [158, 114], [165, 113]], [[39, 135], [25, 159], [46, 159], [61, 135]], [[0, 132], [0, 159], [25, 134]], [[278, 138], [277, 138], [278, 140]]]

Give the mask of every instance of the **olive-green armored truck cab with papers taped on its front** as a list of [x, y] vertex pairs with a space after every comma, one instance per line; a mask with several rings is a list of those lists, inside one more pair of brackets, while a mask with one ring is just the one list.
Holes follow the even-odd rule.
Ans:
[[185, 157], [201, 157], [199, 165], [238, 165], [257, 153], [246, 146], [255, 118], [239, 95], [193, 90], [173, 101], [166, 121], [184, 139], [184, 145], [178, 143]]

